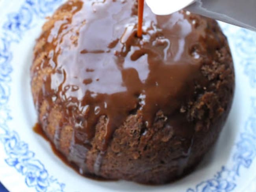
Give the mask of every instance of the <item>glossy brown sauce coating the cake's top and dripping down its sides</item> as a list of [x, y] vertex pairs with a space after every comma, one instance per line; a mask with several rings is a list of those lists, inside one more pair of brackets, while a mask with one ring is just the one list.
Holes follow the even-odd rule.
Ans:
[[[206, 36], [205, 27], [192, 30], [192, 21], [184, 11], [160, 17], [145, 5], [143, 33], [136, 35], [140, 28], [138, 10], [130, 0], [69, 1], [59, 9], [69, 11], [72, 17], [56, 21], [42, 33], [39, 39], [47, 41], [44, 50], [48, 55], [32, 71], [33, 76], [37, 70], [51, 71], [43, 78], [35, 105], [39, 110], [41, 103], [47, 102], [46, 120], [50, 109], [62, 107], [53, 140], [57, 150], [63, 127], [71, 126], [67, 158], [86, 173], [86, 154], [92, 147], [95, 126], [105, 116], [105, 135], [94, 166], [98, 174], [113, 133], [127, 116], [139, 111], [150, 129], [161, 110], [180, 137], [191, 139], [181, 161], [186, 164], [193, 144], [193, 125], [179, 111], [193, 99], [195, 82], [207, 82], [200, 72], [200, 58], [193, 57], [194, 47], [204, 45], [200, 39]], [[137, 37], [140, 33], [141, 38]], [[35, 58], [39, 56], [35, 53]], [[200, 56], [208, 57], [203, 52]]]

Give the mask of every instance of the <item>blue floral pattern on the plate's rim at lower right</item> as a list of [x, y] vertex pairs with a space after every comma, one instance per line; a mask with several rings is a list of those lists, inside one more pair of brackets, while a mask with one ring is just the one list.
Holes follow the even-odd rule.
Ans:
[[202, 181], [195, 189], [189, 188], [187, 192], [230, 192], [236, 187], [241, 169], [250, 168], [256, 157], [256, 98], [252, 98], [251, 103], [252, 114], [236, 143], [232, 166], [223, 166], [212, 179]]

